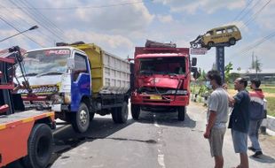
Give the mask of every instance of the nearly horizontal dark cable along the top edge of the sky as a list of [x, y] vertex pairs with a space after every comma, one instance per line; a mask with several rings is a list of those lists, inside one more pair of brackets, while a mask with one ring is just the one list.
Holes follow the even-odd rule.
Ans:
[[35, 7], [9, 7], [11, 9], [28, 9], [28, 10], [76, 10], [76, 9], [97, 9], [97, 8], [109, 8], [109, 7], [115, 7], [115, 6], [124, 6], [124, 5], [131, 5], [131, 4], [141, 4], [146, 1], [153, 1], [153, 0], [144, 0], [144, 1], [138, 1], [138, 2], [132, 2], [132, 3], [121, 3], [121, 4], [106, 4], [106, 5], [98, 5], [98, 6], [72, 6], [72, 7], [44, 7], [44, 8], [35, 8]]

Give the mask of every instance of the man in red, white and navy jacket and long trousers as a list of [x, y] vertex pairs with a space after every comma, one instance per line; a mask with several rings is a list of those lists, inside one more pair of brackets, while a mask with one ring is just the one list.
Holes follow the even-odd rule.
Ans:
[[259, 143], [259, 128], [262, 124], [263, 118], [266, 117], [266, 113], [263, 108], [263, 91], [259, 88], [261, 85], [261, 80], [254, 79], [251, 80], [250, 88], [252, 91], [250, 95], [250, 121], [249, 121], [249, 130], [248, 135], [251, 141], [251, 147], [248, 149], [255, 152], [252, 157], [259, 157], [263, 155], [262, 149]]

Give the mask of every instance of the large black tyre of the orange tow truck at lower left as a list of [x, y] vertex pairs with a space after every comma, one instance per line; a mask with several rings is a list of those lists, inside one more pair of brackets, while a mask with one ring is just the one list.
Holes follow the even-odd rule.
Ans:
[[52, 133], [50, 126], [36, 124], [27, 141], [27, 156], [21, 163], [27, 168], [44, 168], [49, 164], [52, 152]]

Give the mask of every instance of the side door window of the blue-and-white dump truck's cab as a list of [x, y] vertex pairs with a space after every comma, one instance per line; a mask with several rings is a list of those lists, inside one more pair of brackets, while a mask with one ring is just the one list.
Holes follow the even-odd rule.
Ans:
[[80, 73], [88, 73], [87, 59], [85, 56], [75, 53], [74, 81], [77, 80]]

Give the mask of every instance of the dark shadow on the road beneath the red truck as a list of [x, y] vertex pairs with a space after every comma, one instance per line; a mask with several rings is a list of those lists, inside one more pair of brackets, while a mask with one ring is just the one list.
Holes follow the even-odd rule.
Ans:
[[185, 121], [179, 121], [177, 119], [177, 112], [150, 112], [141, 111], [138, 121], [145, 124], [157, 123], [161, 126], [177, 126], [177, 127], [190, 127], [196, 126], [196, 121], [185, 114]]

